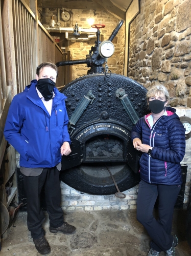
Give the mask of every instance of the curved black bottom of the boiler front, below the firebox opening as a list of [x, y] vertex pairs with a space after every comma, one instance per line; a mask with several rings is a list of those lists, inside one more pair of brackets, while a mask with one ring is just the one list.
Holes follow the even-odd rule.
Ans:
[[139, 173], [134, 173], [125, 163], [82, 163], [61, 172], [60, 178], [67, 185], [89, 194], [114, 194], [117, 189], [105, 166], [107, 164], [121, 192], [136, 186]]

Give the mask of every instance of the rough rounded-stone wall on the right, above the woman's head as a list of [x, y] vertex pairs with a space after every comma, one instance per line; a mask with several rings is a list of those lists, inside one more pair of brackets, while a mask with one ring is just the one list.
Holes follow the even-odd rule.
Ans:
[[141, 0], [130, 25], [128, 76], [163, 84], [171, 106], [191, 107], [191, 0]]

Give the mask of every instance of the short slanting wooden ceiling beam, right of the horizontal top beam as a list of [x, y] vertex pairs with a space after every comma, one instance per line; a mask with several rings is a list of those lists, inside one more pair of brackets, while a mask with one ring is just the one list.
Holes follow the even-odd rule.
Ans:
[[125, 21], [125, 12], [113, 5], [110, 0], [93, 0], [93, 2], [98, 3], [100, 6], [102, 6], [102, 8], [106, 9], [106, 11], [110, 12], [119, 19], [124, 19]]

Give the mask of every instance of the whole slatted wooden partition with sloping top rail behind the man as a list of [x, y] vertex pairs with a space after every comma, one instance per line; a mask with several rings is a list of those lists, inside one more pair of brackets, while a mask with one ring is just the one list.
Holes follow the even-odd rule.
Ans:
[[[1, 166], [7, 144], [3, 131], [13, 96], [35, 78], [40, 63], [62, 61], [63, 53], [24, 0], [0, 1], [0, 49]], [[63, 78], [60, 72], [57, 86]]]

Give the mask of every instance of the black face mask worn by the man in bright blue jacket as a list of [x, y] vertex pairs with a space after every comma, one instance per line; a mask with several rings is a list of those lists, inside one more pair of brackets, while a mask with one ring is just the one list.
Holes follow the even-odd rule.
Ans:
[[53, 88], [55, 86], [55, 82], [53, 82], [50, 78], [39, 79], [37, 82], [37, 89], [44, 97], [44, 101], [50, 101], [53, 99]]

